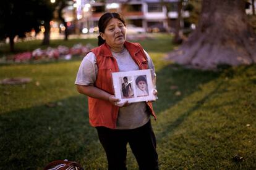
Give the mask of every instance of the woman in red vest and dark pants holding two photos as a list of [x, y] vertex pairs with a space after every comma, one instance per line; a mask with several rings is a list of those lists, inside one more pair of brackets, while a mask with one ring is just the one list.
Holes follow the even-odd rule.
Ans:
[[[156, 119], [150, 102], [116, 105], [111, 73], [151, 68], [148, 54], [137, 43], [126, 41], [126, 24], [121, 15], [103, 14], [98, 22], [98, 45], [83, 59], [75, 84], [88, 96], [90, 124], [96, 127], [105, 149], [108, 169], [126, 169], [129, 143], [139, 169], [158, 169], [156, 140], [150, 115]], [[155, 76], [155, 70], [154, 76]], [[156, 94], [155, 94], [156, 95]]]

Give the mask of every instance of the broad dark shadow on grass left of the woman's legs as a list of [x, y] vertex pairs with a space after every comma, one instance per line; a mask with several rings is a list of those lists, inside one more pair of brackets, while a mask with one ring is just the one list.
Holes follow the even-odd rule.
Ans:
[[0, 115], [1, 168], [42, 169], [50, 161], [64, 159], [87, 164], [105, 156], [88, 123], [86, 97], [56, 103]]

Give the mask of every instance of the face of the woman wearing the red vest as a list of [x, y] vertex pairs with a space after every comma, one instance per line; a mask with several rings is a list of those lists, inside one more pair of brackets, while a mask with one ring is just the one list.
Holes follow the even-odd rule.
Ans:
[[100, 33], [110, 47], [121, 47], [126, 41], [126, 26], [121, 20], [111, 18], [105, 28], [105, 33]]

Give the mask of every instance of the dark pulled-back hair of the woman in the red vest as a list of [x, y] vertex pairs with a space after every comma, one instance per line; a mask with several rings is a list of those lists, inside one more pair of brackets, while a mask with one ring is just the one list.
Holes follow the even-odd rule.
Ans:
[[[108, 25], [109, 20], [111, 20], [112, 18], [117, 18], [118, 20], [120, 20], [124, 26], [126, 26], [126, 22], [124, 22], [124, 18], [122, 17], [122, 15], [116, 13], [116, 12], [106, 12], [105, 14], [103, 14], [98, 22], [98, 27], [99, 27], [99, 33], [104, 33], [106, 26]], [[104, 44], [105, 40], [103, 38], [101, 38], [101, 36], [98, 36], [98, 46], [100, 46], [101, 44]]]

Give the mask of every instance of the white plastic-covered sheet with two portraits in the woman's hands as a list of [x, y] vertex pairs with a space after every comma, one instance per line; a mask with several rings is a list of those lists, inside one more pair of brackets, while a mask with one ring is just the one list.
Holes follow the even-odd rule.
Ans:
[[118, 103], [156, 100], [150, 69], [116, 72], [112, 78], [114, 95], [121, 99]]

